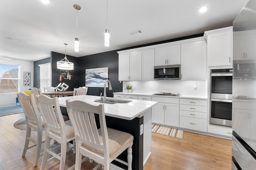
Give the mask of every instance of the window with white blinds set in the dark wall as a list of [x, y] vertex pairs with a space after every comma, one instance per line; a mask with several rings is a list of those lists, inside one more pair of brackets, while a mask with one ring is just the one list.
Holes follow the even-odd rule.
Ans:
[[44, 87], [51, 86], [51, 63], [38, 65], [40, 67], [40, 89], [44, 92]]

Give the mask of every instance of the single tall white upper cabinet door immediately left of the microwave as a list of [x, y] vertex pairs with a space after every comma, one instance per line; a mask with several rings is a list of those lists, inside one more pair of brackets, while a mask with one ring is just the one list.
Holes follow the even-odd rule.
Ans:
[[154, 80], [155, 49], [142, 50], [142, 80]]

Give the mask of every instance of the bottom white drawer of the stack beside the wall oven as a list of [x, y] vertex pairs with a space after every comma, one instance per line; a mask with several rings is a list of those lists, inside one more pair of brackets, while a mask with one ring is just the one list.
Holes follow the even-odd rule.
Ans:
[[196, 131], [207, 131], [207, 119], [180, 116], [180, 127]]

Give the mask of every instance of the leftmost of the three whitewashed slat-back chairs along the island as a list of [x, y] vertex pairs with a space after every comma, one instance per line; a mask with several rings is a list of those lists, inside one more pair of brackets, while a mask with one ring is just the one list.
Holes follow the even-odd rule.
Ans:
[[[42, 131], [44, 130], [44, 121], [40, 116], [34, 94], [27, 95], [25, 93], [17, 93], [18, 100], [24, 111], [26, 118], [26, 139], [25, 146], [22, 153], [22, 157], [25, 156], [28, 149], [36, 147], [36, 157], [34, 161], [34, 166], [37, 166], [38, 159], [40, 157], [41, 146], [44, 141], [42, 141]], [[36, 130], [37, 139], [32, 139], [31, 129]], [[34, 143], [34, 145], [28, 147], [29, 142]]]

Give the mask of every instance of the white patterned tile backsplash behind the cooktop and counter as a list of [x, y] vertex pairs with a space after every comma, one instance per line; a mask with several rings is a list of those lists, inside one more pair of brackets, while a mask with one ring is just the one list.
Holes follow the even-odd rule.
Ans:
[[191, 96], [206, 96], [207, 94], [205, 80], [124, 81], [124, 92], [128, 83], [132, 85], [132, 92], [137, 93], [171, 92]]

